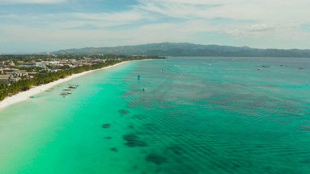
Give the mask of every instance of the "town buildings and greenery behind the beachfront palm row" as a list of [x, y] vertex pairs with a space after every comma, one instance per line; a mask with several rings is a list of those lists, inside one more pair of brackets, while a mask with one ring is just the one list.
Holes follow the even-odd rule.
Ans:
[[[23, 60], [17, 61], [17, 58]], [[0, 83], [11, 84], [21, 79], [32, 79], [40, 72], [58, 72], [67, 69], [92, 66], [106, 61], [122, 61], [124, 58], [147, 58], [140, 55], [0, 55]], [[1, 60], [2, 59], [2, 60]], [[6, 60], [5, 60], [6, 59]], [[13, 61], [15, 59], [15, 61]]]

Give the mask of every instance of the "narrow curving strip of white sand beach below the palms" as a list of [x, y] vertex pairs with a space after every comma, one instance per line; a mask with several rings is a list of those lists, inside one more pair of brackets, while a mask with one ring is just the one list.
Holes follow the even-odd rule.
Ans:
[[[153, 60], [153, 59], [143, 59], [143, 60]], [[112, 68], [112, 67], [115, 67], [117, 65], [120, 65], [120, 64], [123, 64], [123, 63], [126, 63], [126, 62], [131, 62], [131, 61], [140, 61], [140, 60], [129, 60], [129, 61], [120, 62], [120, 63], [114, 64], [112, 66], [100, 68], [100, 69], [97, 69], [97, 70], [91, 70], [91, 71], [85, 71], [85, 72], [82, 72], [82, 73], [72, 74], [72, 75], [67, 76], [67, 77], [65, 77], [63, 79], [59, 79], [59, 80], [56, 80], [54, 82], [51, 82], [51, 83], [48, 83], [48, 84], [45, 84], [45, 85], [32, 87], [31, 89], [29, 89], [27, 91], [19, 92], [18, 94], [14, 95], [12, 97], [5, 98], [3, 101], [0, 102], [0, 110], [5, 108], [5, 107], [7, 107], [7, 106], [9, 106], [9, 105], [11, 105], [11, 104], [25, 101], [25, 100], [29, 99], [30, 96], [32, 96], [34, 94], [37, 94], [37, 93], [40, 93], [40, 92], [44, 92], [45, 90], [47, 90], [47, 89], [49, 89], [49, 88], [51, 88], [51, 87], [53, 87], [55, 85], [61, 84], [61, 83], [66, 82], [66, 81], [69, 81], [69, 80], [71, 80], [73, 78], [85, 75], [87, 73], [92, 73], [94, 71]]]

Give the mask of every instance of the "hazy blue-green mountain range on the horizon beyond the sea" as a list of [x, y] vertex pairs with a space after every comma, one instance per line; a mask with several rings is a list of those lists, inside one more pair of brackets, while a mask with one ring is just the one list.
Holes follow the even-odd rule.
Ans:
[[220, 46], [193, 43], [149, 43], [134, 46], [87, 47], [51, 52], [51, 54], [123, 54], [147, 56], [206, 57], [288, 57], [310, 58], [310, 50], [257, 49], [248, 46]]

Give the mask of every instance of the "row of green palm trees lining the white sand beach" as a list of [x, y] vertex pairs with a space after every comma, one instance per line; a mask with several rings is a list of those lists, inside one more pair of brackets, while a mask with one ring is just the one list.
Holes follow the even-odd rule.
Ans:
[[[150, 58], [158, 59], [160, 57], [157, 57], [157, 56], [148, 57], [148, 59]], [[4, 100], [10, 93], [14, 95], [14, 94], [17, 94], [18, 92], [29, 90], [31, 89], [31, 87], [47, 84], [47, 83], [65, 78], [72, 74], [82, 73], [85, 71], [108, 67], [116, 63], [120, 63], [122, 61], [141, 60], [141, 59], [146, 59], [146, 58], [130, 57], [130, 58], [124, 58], [122, 60], [107, 60], [105, 63], [83, 65], [83, 66], [79, 66], [76, 68], [65, 69], [63, 71], [58, 71], [58, 72], [53, 72], [53, 73], [50, 73], [47, 71], [41, 71], [37, 73], [32, 79], [28, 79], [27, 77], [23, 76], [21, 80], [17, 82], [12, 82], [11, 84], [0, 83], [0, 101]]]

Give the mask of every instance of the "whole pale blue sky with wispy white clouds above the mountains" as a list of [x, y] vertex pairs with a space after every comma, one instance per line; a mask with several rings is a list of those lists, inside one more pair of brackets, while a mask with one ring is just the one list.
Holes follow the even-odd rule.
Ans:
[[0, 53], [195, 43], [310, 49], [310, 0], [0, 0]]

